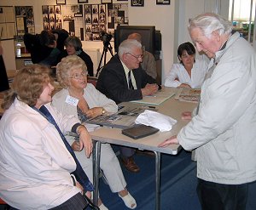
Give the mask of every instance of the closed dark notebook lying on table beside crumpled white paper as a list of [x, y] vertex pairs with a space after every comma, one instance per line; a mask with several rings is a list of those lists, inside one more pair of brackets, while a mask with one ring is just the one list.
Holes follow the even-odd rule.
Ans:
[[141, 139], [143, 137], [157, 133], [158, 131], [159, 131], [158, 128], [153, 128], [151, 126], [145, 126], [143, 124], [139, 124], [131, 128], [123, 129], [122, 133], [126, 136], [131, 137], [132, 139]]

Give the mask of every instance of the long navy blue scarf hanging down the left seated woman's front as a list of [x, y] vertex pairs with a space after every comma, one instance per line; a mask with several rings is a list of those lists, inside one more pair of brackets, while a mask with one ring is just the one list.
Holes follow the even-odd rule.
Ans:
[[[83, 168], [81, 167], [79, 160], [77, 159], [77, 157], [74, 154], [74, 151], [71, 147], [71, 145], [68, 144], [67, 139], [65, 138], [65, 136], [63, 135], [63, 133], [61, 132], [61, 129], [59, 128], [59, 126], [57, 125], [57, 123], [55, 122], [55, 119], [53, 116], [51, 116], [51, 114], [49, 113], [49, 111], [47, 110], [47, 108], [42, 105], [41, 108], [38, 110], [35, 107], [32, 107], [34, 110], [38, 111], [42, 116], [44, 116], [49, 123], [53, 124], [55, 126], [55, 128], [57, 129], [57, 131], [59, 132], [61, 139], [64, 143], [64, 145], [67, 147], [67, 150], [70, 152], [70, 154], [73, 156], [74, 161], [77, 164], [77, 168], [75, 171], [73, 171], [73, 175], [76, 177], [76, 179], [78, 180], [79, 184], [81, 184], [84, 187], [84, 191], [93, 191], [93, 185], [90, 183], [87, 175], [84, 173]], [[85, 156], [84, 156], [85, 158]]]

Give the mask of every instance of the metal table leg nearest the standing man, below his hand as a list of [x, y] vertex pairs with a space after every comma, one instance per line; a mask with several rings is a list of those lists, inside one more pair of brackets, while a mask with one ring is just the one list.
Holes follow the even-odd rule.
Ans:
[[160, 157], [159, 151], [154, 151], [155, 154], [155, 209], [160, 210]]

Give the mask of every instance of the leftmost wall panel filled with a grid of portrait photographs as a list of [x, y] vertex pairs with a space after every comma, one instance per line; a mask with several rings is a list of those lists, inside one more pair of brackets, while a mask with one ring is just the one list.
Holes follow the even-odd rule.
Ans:
[[62, 28], [61, 6], [42, 6], [44, 30]]

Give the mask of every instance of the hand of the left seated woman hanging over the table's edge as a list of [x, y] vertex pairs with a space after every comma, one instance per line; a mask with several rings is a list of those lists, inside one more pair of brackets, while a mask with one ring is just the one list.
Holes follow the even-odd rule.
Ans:
[[84, 148], [85, 155], [89, 158], [93, 147], [90, 134], [84, 126], [79, 126], [77, 133], [79, 133], [79, 150]]

